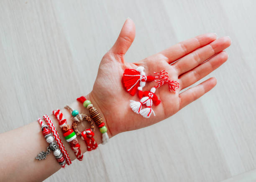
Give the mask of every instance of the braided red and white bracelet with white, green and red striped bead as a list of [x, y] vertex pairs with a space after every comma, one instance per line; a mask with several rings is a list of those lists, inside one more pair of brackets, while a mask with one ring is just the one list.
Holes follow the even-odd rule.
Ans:
[[83, 154], [80, 150], [80, 145], [77, 140], [76, 133], [67, 124], [67, 120], [63, 117], [63, 114], [60, 110], [54, 110], [52, 113], [59, 121], [59, 126], [61, 127], [61, 130], [63, 132], [63, 136], [65, 137], [66, 141], [69, 142], [69, 145], [71, 146], [71, 149], [74, 151], [74, 154], [76, 155], [77, 159], [80, 161], [83, 160]]

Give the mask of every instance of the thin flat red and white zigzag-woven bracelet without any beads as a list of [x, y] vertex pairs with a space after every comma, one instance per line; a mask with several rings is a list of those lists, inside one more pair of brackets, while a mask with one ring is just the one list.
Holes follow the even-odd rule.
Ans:
[[69, 154], [67, 153], [66, 148], [64, 147], [63, 143], [61, 142], [59, 133], [56, 131], [56, 128], [54, 127], [54, 124], [52, 123], [50, 117], [48, 115], [44, 115], [43, 118], [47, 122], [47, 125], [49, 126], [49, 130], [52, 132], [54, 139], [55, 139], [57, 145], [59, 146], [59, 150], [67, 162], [67, 165], [71, 165], [72, 162], [69, 158]]

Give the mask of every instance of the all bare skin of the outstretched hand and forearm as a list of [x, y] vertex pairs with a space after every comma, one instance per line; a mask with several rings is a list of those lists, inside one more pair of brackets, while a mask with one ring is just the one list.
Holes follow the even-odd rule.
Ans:
[[[110, 138], [121, 132], [137, 130], [164, 120], [210, 91], [217, 83], [214, 77], [184, 92], [183, 89], [220, 67], [228, 59], [228, 54], [223, 50], [231, 44], [229, 37], [217, 39], [216, 34], [207, 33], [180, 42], [139, 62], [128, 63], [125, 62], [124, 55], [134, 38], [135, 25], [131, 19], [127, 19], [115, 44], [102, 58], [93, 89], [86, 95], [100, 111]], [[170, 80], [175, 80], [180, 85], [176, 93], [170, 92], [167, 85], [156, 89], [161, 103], [153, 106], [156, 116], [151, 115], [147, 119], [131, 110], [129, 100], [136, 100], [138, 97], [129, 95], [121, 83], [123, 71], [126, 68], [136, 69], [138, 66], [145, 67], [146, 75], [166, 70]], [[154, 85], [154, 82], [148, 83], [143, 90], [149, 90]], [[79, 110], [79, 113], [89, 114], [79, 102], [70, 106]], [[72, 125], [70, 112], [65, 109], [62, 109], [62, 112], [67, 118], [67, 123]], [[74, 160], [74, 152], [64, 140], [58, 121], [50, 114], [49, 117], [54, 122], [71, 159]], [[83, 129], [79, 127], [79, 130]], [[29, 138], [28, 135], [33, 137]], [[15, 136], [18, 136], [18, 140]], [[47, 147], [37, 122], [2, 133], [0, 137], [8, 138], [0, 140], [1, 181], [42, 181], [61, 168], [52, 154], [48, 155], [46, 160], [35, 160], [38, 152], [45, 151]], [[82, 152], [86, 152], [85, 143], [80, 138], [78, 140]], [[98, 144], [102, 142], [98, 129], [95, 130], [95, 140]]]

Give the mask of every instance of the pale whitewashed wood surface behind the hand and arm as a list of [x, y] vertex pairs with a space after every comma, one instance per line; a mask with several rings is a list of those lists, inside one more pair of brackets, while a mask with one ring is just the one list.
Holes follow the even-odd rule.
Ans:
[[233, 43], [228, 62], [210, 74], [218, 80], [212, 91], [167, 120], [112, 138], [46, 181], [255, 180], [255, 8], [255, 0], [1, 0], [0, 132], [90, 92], [127, 17], [136, 24], [129, 62], [216, 32]]

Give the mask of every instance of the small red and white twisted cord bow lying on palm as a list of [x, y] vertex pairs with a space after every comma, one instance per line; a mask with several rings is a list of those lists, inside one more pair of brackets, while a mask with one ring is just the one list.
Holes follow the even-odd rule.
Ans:
[[159, 88], [165, 83], [168, 83], [170, 92], [176, 92], [176, 89], [179, 88], [179, 83], [177, 81], [169, 80], [166, 70], [162, 70], [160, 73], [154, 73], [156, 74], [155, 82], [158, 83], [155, 88]]

